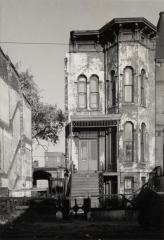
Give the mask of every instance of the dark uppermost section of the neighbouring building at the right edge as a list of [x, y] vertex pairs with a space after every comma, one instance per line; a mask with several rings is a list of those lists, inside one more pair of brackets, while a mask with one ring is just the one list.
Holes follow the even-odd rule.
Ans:
[[159, 13], [157, 24], [156, 59], [164, 59], [164, 11]]

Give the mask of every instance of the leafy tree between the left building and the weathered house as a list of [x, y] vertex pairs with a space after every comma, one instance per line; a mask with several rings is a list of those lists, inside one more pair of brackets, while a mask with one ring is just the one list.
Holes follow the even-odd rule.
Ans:
[[26, 70], [20, 72], [21, 89], [32, 109], [32, 138], [56, 143], [64, 126], [65, 116], [57, 105], [43, 103], [33, 75]]

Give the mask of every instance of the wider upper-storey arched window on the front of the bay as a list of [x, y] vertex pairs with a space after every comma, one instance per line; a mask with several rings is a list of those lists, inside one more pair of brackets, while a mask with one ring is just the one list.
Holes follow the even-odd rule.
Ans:
[[126, 67], [124, 70], [124, 100], [125, 102], [133, 102], [134, 85], [133, 85], [133, 69]]

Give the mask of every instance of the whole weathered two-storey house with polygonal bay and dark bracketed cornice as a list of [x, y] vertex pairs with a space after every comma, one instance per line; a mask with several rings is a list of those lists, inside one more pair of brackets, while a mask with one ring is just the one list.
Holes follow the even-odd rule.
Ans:
[[161, 163], [155, 161], [156, 34], [141, 17], [70, 32], [65, 111], [72, 196], [130, 194]]

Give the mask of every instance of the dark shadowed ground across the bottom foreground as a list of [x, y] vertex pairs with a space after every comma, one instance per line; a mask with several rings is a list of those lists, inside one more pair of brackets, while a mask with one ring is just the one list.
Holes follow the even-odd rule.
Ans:
[[164, 239], [164, 231], [143, 230], [137, 222], [85, 220], [83, 215], [56, 220], [53, 213], [27, 210], [13, 223], [1, 225], [0, 239], [112, 240]]

